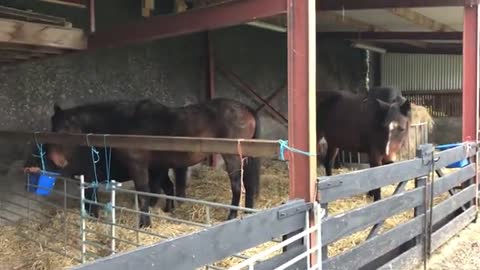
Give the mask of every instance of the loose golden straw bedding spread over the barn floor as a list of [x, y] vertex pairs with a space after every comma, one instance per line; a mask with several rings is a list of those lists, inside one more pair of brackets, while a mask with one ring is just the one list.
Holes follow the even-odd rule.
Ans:
[[[347, 170], [337, 170], [335, 173], [345, 172], [347, 172]], [[319, 175], [323, 175], [323, 168], [319, 169]], [[256, 205], [258, 208], [271, 208], [274, 206], [278, 206], [288, 200], [289, 178], [288, 169], [285, 163], [274, 161], [264, 162], [261, 179], [262, 182], [260, 197]], [[223, 170], [213, 170], [211, 168], [201, 166], [196, 171], [192, 172], [188, 185], [189, 186], [187, 188], [187, 196], [190, 198], [198, 198], [202, 200], [230, 204], [230, 184], [227, 180], [227, 174]], [[409, 183], [407, 189], [410, 189], [412, 187], [413, 182]], [[394, 189], [395, 185], [383, 188], [382, 195], [384, 197], [390, 196], [393, 193]], [[352, 198], [329, 204], [329, 213], [331, 215], [339, 214], [350, 209], [358, 208], [362, 205], [368, 204], [369, 202], [371, 202], [371, 198], [367, 197], [366, 195], [354, 196]], [[119, 206], [125, 206], [133, 209], [134, 199], [131, 195], [119, 194], [117, 196], [117, 204]], [[8, 262], [7, 264], [2, 264], [2, 266], [5, 265], [7, 269], [46, 270], [60, 269], [63, 267], [78, 264], [78, 262], [73, 259], [58, 255], [57, 253], [51, 252], [45, 248], [53, 247], [58, 250], [64, 250], [67, 255], [76, 258], [80, 257], [80, 253], [78, 251], [78, 248], [81, 244], [80, 232], [78, 227], [78, 202], [72, 202], [69, 205], [71, 206], [71, 209], [68, 211], [67, 214], [67, 220], [70, 223], [66, 228], [68, 236], [66, 239], [68, 247], [66, 249], [64, 249], [65, 238], [63, 232], [65, 228], [63, 226], [63, 213], [61, 211], [59, 212], [52, 210], [49, 212], [49, 214], [52, 216], [51, 219], [43, 220], [42, 222], [32, 222], [31, 224], [29, 224], [31, 225], [30, 228], [24, 228], [20, 226], [1, 227], [0, 263], [4, 261]], [[162, 202], [160, 202], [157, 207], [152, 210], [152, 212], [158, 215], [167, 215], [161, 211], [161, 205]], [[181, 205], [177, 205], [177, 208], [173, 214], [168, 215], [171, 215], [175, 218], [204, 222], [206, 211], [207, 210], [205, 206], [192, 206], [189, 203], [183, 203]], [[224, 221], [228, 214], [227, 210], [225, 209], [211, 209], [210, 213], [213, 223]], [[389, 230], [390, 228], [393, 228], [394, 226], [405, 222], [412, 216], [413, 211], [407, 211], [405, 213], [401, 213], [397, 216], [389, 218], [383, 226], [383, 231]], [[148, 229], [147, 231], [162, 234], [169, 238], [199, 230], [199, 228], [194, 226], [159, 220], [157, 218], [152, 218], [152, 222], [153, 227]], [[137, 215], [134, 213], [117, 211], [117, 223], [135, 227], [137, 224]], [[26, 224], [26, 222], [21, 221], [21, 224]], [[103, 232], [108, 234], [110, 226], [89, 221], [87, 222], [87, 228], [91, 231]], [[19, 233], [27, 234], [30, 236], [34, 235], [36, 237], [37, 243], [26, 241], [21, 236], [19, 236]], [[39, 233], [56, 235], [58, 237], [58, 242], [53, 243]], [[365, 230], [340, 241], [337, 241], [329, 247], [329, 255], [333, 256], [335, 254], [352, 248], [358, 243], [364, 241], [367, 234], [368, 230]], [[137, 241], [137, 234], [127, 229], [117, 228], [117, 237], [131, 242]], [[87, 239], [100, 245], [109, 246], [109, 239], [107, 237], [88, 233]], [[161, 238], [148, 234], [139, 235], [139, 243], [142, 245], [155, 243], [161, 240]], [[273, 242], [265, 243], [262, 246], [247, 250], [243, 254], [252, 255], [272, 245], [274, 245]], [[135, 246], [133, 245], [123, 242], [117, 242], [118, 251], [126, 251], [134, 248]], [[93, 246], [88, 246], [88, 251], [91, 253], [100, 254], [102, 256], [107, 256], [109, 254], [107, 250], [102, 250], [101, 248]], [[14, 258], [14, 260], [12, 258]], [[217, 262], [216, 266], [228, 267], [240, 261], [241, 259], [230, 257], [221, 262]]]

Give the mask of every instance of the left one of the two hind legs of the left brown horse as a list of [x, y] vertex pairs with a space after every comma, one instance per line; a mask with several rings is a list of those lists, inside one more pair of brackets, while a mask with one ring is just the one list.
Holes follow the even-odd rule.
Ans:
[[[240, 205], [240, 196], [242, 191], [242, 179], [241, 179], [241, 165], [240, 158], [235, 155], [223, 155], [225, 160], [225, 168], [227, 170], [228, 176], [230, 177], [230, 184], [232, 186], [232, 203], [233, 206]], [[230, 209], [228, 214], [228, 220], [234, 219], [237, 217], [237, 210]]]

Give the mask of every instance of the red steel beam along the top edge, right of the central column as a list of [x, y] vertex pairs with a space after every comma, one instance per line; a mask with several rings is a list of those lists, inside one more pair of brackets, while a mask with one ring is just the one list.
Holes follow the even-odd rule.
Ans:
[[318, 10], [466, 6], [478, 0], [317, 0]]

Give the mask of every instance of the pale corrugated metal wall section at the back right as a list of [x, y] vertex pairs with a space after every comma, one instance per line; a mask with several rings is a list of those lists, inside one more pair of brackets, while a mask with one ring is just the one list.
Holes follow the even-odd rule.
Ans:
[[402, 91], [462, 89], [462, 56], [387, 53], [381, 58], [381, 82]]

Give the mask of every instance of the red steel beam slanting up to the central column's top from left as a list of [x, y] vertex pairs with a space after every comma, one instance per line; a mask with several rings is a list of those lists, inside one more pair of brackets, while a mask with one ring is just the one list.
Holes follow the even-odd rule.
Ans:
[[238, 25], [287, 11], [286, 0], [236, 0], [175, 15], [156, 16], [97, 32], [89, 38], [90, 49], [202, 32]]

